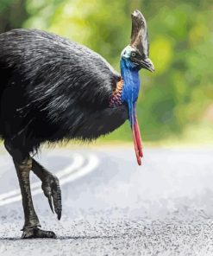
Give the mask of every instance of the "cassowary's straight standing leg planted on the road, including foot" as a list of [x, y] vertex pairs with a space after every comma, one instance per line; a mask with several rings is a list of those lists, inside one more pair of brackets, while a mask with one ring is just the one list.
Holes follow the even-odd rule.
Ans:
[[13, 149], [11, 144], [6, 142], [4, 144], [9, 154], [13, 157], [22, 193], [22, 205], [25, 218], [22, 228], [22, 238], [55, 238], [56, 236], [52, 231], [44, 231], [39, 228], [41, 224], [34, 211], [29, 182], [29, 172], [32, 170], [32, 159], [29, 156], [23, 157], [21, 151]]

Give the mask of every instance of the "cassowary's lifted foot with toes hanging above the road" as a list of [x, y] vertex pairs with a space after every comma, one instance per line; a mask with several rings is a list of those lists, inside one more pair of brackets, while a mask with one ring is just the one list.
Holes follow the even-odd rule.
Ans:
[[54, 213], [55, 211], [58, 220], [60, 220], [62, 205], [59, 179], [51, 173], [48, 173], [45, 180], [42, 182], [41, 188], [44, 191], [44, 195], [47, 196], [52, 212]]

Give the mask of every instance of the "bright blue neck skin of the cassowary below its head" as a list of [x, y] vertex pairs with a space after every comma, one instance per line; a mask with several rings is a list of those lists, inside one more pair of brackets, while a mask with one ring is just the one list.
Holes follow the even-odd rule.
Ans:
[[135, 103], [140, 89], [139, 70], [133, 66], [131, 61], [122, 59], [121, 73], [123, 79], [122, 102], [128, 105], [129, 121], [132, 124], [134, 121], [132, 116], [135, 116]]

